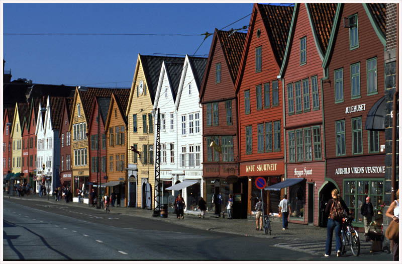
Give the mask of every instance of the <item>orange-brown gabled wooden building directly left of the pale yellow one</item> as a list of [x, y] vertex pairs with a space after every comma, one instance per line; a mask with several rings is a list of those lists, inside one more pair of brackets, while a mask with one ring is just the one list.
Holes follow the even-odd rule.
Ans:
[[108, 117], [105, 125], [107, 140], [108, 183], [107, 193], [113, 192], [117, 196], [117, 206], [127, 206], [128, 179], [127, 179], [127, 124], [126, 110], [130, 96], [130, 89], [122, 89], [120, 93], [113, 93]]

